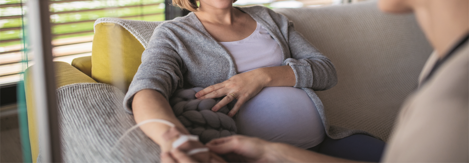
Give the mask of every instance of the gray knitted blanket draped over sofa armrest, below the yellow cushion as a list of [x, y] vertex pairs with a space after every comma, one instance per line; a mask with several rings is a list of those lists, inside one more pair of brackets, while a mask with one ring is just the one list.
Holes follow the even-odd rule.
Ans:
[[[159, 146], [139, 128], [116, 144], [135, 125], [122, 101], [124, 94], [112, 85], [77, 83], [57, 89], [63, 161], [160, 162]], [[41, 162], [41, 154], [37, 159]]]

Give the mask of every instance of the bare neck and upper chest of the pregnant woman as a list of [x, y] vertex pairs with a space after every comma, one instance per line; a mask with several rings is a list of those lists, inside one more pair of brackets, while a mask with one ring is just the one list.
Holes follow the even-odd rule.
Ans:
[[232, 5], [223, 7], [215, 7], [210, 4], [200, 2], [197, 12], [194, 14], [201, 21], [212, 24], [232, 25], [235, 19], [239, 16], [239, 10], [235, 9]]

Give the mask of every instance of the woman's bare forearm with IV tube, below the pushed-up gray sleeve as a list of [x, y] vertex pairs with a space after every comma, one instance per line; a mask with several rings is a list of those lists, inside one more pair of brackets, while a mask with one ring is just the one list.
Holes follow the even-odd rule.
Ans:
[[[172, 112], [170, 103], [156, 90], [144, 89], [137, 92], [133, 98], [132, 110], [137, 123], [149, 119], [164, 119], [174, 123], [182, 133], [189, 134]], [[161, 123], [147, 123], [140, 128], [151, 140], [160, 145], [162, 151], [171, 149], [171, 142], [166, 142], [162, 137], [163, 133], [170, 129], [170, 126]]]

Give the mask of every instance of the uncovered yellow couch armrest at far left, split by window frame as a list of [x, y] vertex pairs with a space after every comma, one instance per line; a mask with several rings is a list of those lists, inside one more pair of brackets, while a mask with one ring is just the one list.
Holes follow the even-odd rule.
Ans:
[[[57, 88], [80, 82], [96, 82], [80, 70], [76, 69], [72, 65], [62, 62], [54, 61], [54, 68], [56, 71], [56, 84]], [[38, 129], [36, 126], [36, 109], [34, 103], [34, 90], [33, 90], [33, 79], [32, 79], [32, 65], [24, 71], [24, 87], [26, 93], [26, 106], [28, 113], [28, 128], [29, 128], [29, 141], [31, 143], [31, 154], [33, 162], [36, 163], [36, 158], [39, 155], [39, 142], [38, 142]]]

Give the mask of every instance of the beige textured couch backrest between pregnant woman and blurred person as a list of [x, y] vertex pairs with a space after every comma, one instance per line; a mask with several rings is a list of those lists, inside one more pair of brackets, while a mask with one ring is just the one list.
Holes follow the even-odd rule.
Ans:
[[337, 69], [338, 84], [317, 92], [329, 124], [386, 141], [432, 51], [414, 16], [384, 14], [376, 1], [276, 11]]

